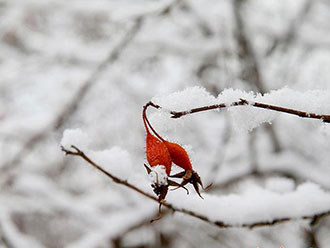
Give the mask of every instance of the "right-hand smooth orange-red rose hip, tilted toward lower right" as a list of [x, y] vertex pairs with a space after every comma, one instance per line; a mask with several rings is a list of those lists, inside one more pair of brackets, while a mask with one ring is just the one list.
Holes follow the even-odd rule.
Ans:
[[166, 145], [166, 147], [170, 153], [173, 163], [175, 163], [177, 166], [180, 166], [182, 169], [184, 169], [186, 171], [192, 170], [189, 155], [186, 152], [186, 150], [183, 149], [182, 146], [180, 146], [176, 143], [168, 142], [166, 140], [164, 140], [164, 144]]

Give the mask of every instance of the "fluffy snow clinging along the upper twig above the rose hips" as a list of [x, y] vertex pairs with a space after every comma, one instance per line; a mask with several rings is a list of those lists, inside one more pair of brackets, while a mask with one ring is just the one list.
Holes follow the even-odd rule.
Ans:
[[[228, 105], [227, 110], [233, 120], [233, 127], [243, 132], [251, 131], [263, 123], [271, 123], [279, 114], [286, 115], [285, 113], [249, 105], [230, 107], [232, 103], [238, 102], [240, 99], [245, 99], [250, 104], [260, 102], [310, 113], [330, 113], [330, 91], [321, 90], [299, 92], [282, 88], [262, 95], [252, 91], [225, 89], [215, 98], [204, 88], [191, 87], [167, 96], [154, 97], [152, 101], [163, 107], [165, 111], [189, 111], [196, 107], [225, 103]], [[175, 124], [178, 123], [178, 121], [170, 120], [170, 115], [164, 114], [164, 110], [154, 113], [150, 119], [155, 120], [157, 127], [162, 126], [159, 128], [164, 132], [175, 128]], [[182, 124], [182, 122], [180, 123]]]

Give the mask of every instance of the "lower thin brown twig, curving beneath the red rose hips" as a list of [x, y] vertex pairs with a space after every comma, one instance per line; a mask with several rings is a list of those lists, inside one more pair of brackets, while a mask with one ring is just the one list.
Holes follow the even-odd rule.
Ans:
[[[99, 170], [100, 172], [102, 172], [103, 174], [105, 174], [107, 177], [109, 177], [110, 179], [112, 179], [115, 183], [117, 184], [121, 184], [124, 185], [136, 192], [138, 192], [139, 194], [155, 201], [158, 203], [158, 198], [155, 196], [150, 195], [149, 193], [144, 192], [143, 190], [137, 188], [136, 186], [130, 184], [129, 182], [127, 182], [126, 180], [122, 180], [116, 176], [113, 176], [112, 174], [110, 174], [109, 172], [107, 172], [106, 170], [104, 170], [101, 166], [99, 166], [98, 164], [96, 164], [94, 161], [92, 161], [84, 152], [82, 152], [79, 148], [72, 146], [73, 150], [68, 150], [65, 149], [64, 147], [62, 147], [62, 151], [65, 152], [66, 155], [72, 155], [72, 156], [78, 156], [81, 157], [82, 159], [84, 159], [86, 162], [88, 162], [90, 165], [92, 165], [94, 168], [96, 168], [97, 170]], [[209, 224], [212, 224], [214, 226], [217, 226], [219, 228], [232, 228], [232, 227], [245, 227], [245, 228], [255, 228], [255, 227], [262, 227], [262, 226], [273, 226], [276, 224], [281, 224], [281, 223], [285, 223], [285, 222], [289, 222], [289, 221], [293, 221], [293, 220], [298, 220], [298, 219], [302, 219], [302, 220], [310, 220], [311, 221], [311, 225], [315, 225], [318, 223], [318, 221], [321, 218], [324, 218], [326, 216], [330, 215], [330, 210], [329, 211], [325, 211], [325, 212], [321, 212], [318, 214], [313, 214], [313, 215], [308, 215], [308, 216], [303, 216], [300, 218], [291, 218], [291, 217], [283, 217], [283, 218], [279, 218], [279, 219], [274, 219], [272, 221], [260, 221], [260, 222], [255, 222], [255, 223], [246, 223], [246, 224], [241, 224], [241, 225], [235, 225], [235, 224], [226, 224], [223, 221], [212, 221], [210, 220], [208, 217], [193, 212], [191, 210], [187, 210], [184, 208], [177, 208], [175, 206], [173, 206], [170, 203], [164, 202], [163, 206], [169, 208], [170, 210], [174, 211], [174, 212], [180, 212], [180, 213], [184, 213], [186, 215], [190, 215], [192, 217], [195, 217], [197, 219], [200, 219], [202, 221], [205, 221]]]

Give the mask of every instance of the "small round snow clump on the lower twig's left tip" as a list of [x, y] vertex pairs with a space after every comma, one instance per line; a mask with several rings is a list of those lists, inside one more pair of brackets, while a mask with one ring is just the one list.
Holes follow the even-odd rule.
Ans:
[[81, 149], [88, 147], [90, 139], [81, 129], [67, 129], [63, 132], [61, 146], [69, 149], [71, 145], [75, 145]]

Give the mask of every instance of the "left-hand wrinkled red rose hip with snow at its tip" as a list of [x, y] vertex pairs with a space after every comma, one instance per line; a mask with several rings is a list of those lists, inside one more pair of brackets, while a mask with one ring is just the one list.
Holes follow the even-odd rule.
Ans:
[[155, 136], [153, 136], [148, 130], [146, 141], [146, 153], [149, 165], [164, 165], [166, 174], [169, 175], [171, 172], [172, 161], [166, 145]]

